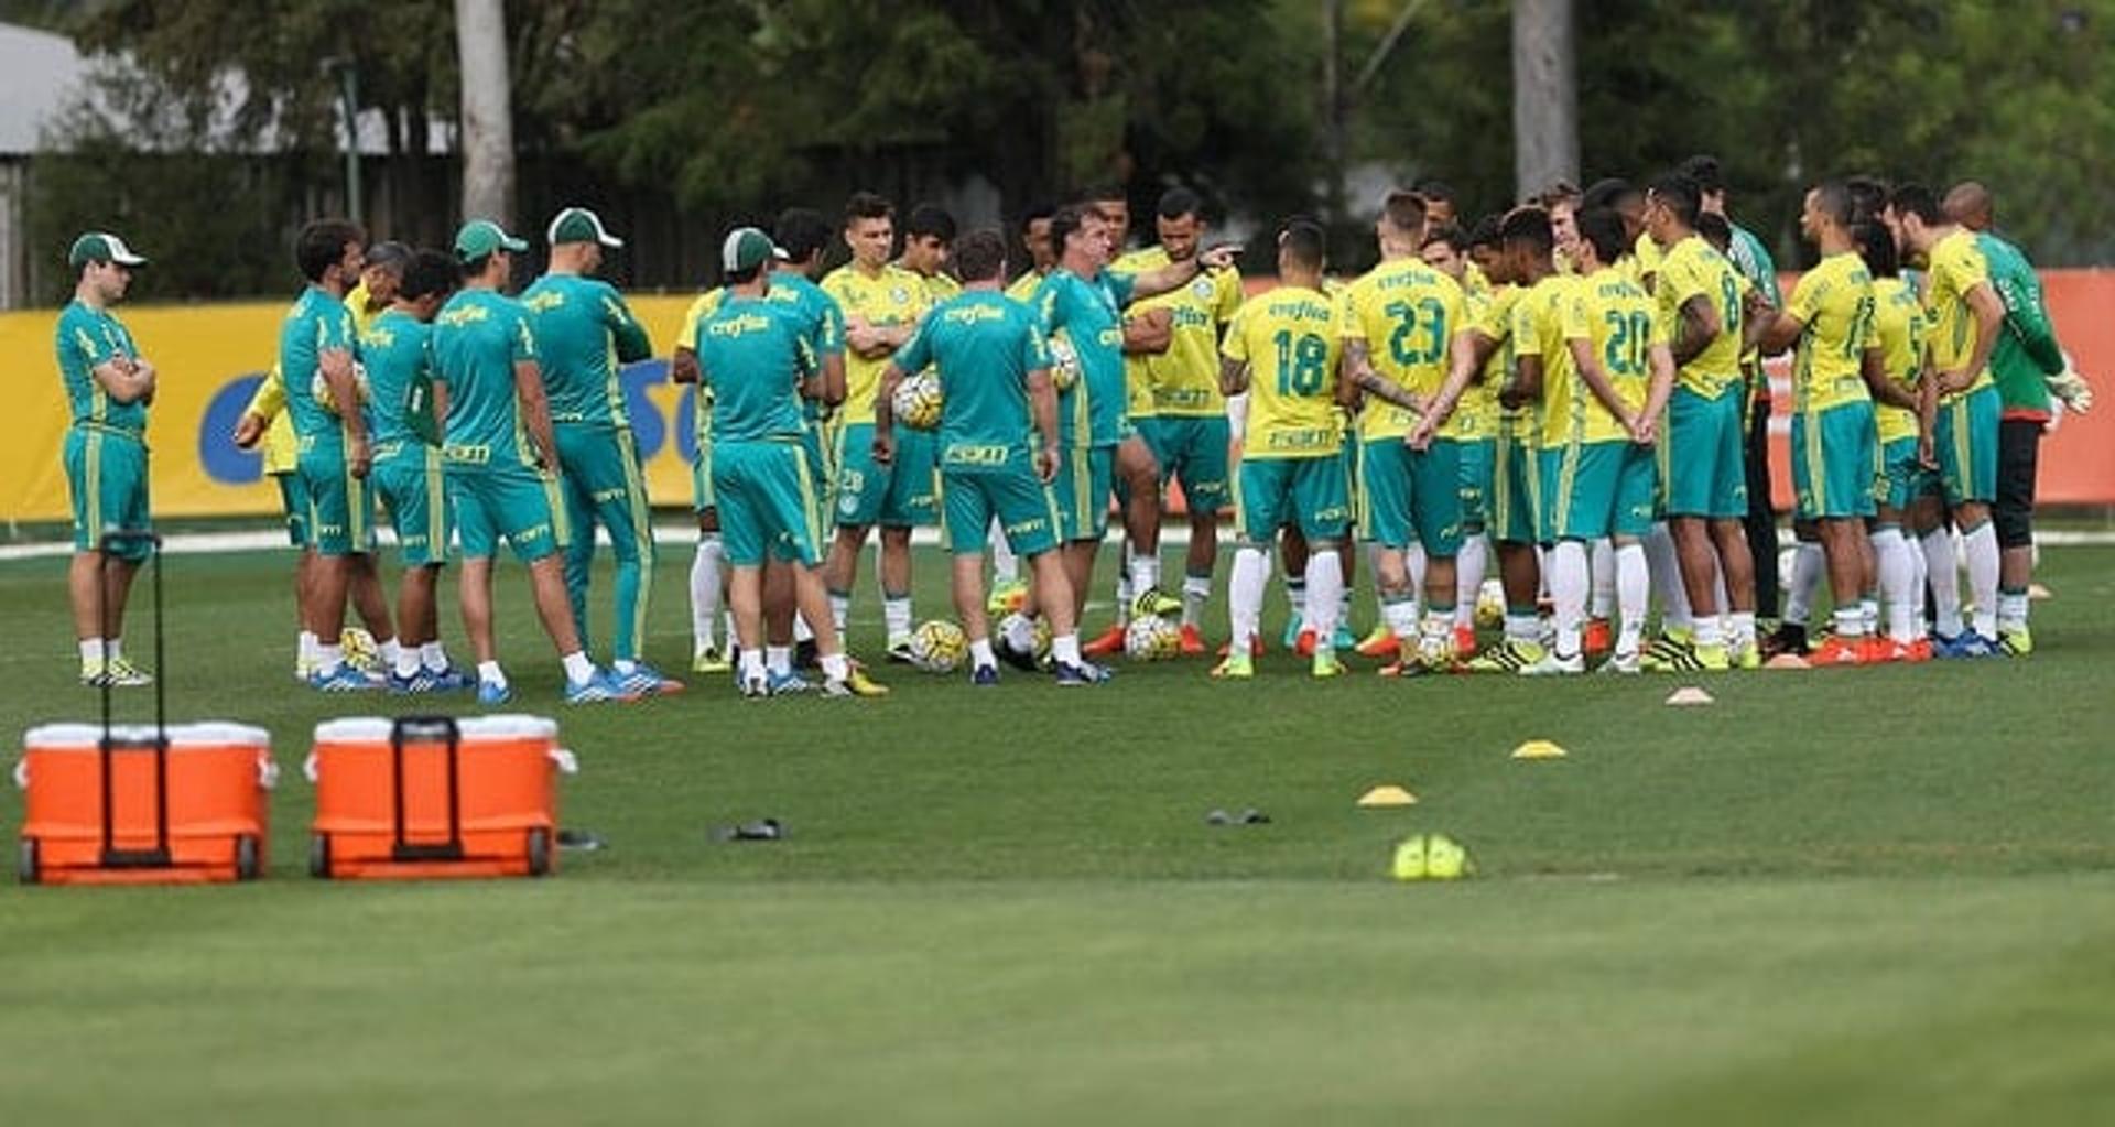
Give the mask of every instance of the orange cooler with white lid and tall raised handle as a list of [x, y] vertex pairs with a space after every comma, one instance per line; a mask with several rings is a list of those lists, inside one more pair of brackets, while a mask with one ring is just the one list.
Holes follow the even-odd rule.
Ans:
[[23, 736], [23, 884], [197, 884], [264, 871], [271, 734], [241, 723], [110, 729], [47, 723]]

